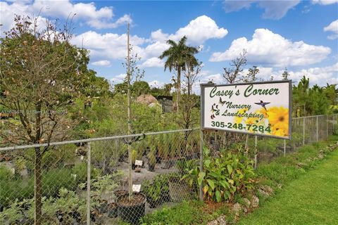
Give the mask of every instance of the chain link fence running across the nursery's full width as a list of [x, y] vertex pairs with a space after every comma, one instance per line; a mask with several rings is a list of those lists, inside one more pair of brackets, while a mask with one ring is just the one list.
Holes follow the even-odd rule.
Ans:
[[[290, 141], [204, 131], [204, 146], [215, 156], [239, 150], [259, 163], [327, 139], [337, 132], [337, 120], [294, 118]], [[184, 129], [0, 148], [0, 224], [35, 224], [35, 217], [36, 224], [139, 224], [165, 205], [199, 198], [198, 186], [182, 177], [200, 165], [200, 143], [199, 129]]]

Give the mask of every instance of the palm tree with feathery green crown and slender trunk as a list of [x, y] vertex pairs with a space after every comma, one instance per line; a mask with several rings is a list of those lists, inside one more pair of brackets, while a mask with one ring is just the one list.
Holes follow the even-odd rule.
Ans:
[[192, 46], [187, 46], [187, 37], [182, 37], [177, 43], [173, 40], [168, 40], [167, 44], [170, 45], [169, 49], [163, 51], [159, 58], [167, 58], [164, 64], [164, 70], [167, 68], [171, 72], [173, 69], [177, 72], [176, 81], [176, 102], [174, 107], [178, 112], [178, 103], [180, 102], [180, 89], [181, 89], [181, 71], [187, 68], [194, 67], [198, 64], [198, 61], [194, 57], [194, 54], [199, 51]]

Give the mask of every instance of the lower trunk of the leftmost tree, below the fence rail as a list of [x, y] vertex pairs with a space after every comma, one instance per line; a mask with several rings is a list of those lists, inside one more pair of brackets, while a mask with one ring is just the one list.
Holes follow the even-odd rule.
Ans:
[[42, 220], [42, 172], [41, 172], [42, 153], [40, 148], [35, 148], [35, 225], [41, 224]]

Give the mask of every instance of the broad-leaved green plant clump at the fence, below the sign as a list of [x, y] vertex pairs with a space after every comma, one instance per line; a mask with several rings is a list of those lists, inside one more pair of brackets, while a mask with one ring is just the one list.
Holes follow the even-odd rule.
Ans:
[[220, 158], [213, 158], [210, 150], [204, 148], [204, 171], [199, 167], [191, 169], [182, 179], [190, 185], [203, 183], [204, 198], [221, 202], [232, 200], [234, 193], [244, 193], [253, 187], [253, 162], [244, 155], [221, 153]]

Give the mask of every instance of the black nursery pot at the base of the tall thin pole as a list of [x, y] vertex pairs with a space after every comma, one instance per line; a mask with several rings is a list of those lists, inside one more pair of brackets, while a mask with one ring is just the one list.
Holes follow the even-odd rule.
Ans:
[[116, 201], [118, 205], [118, 216], [130, 224], [139, 224], [139, 219], [144, 217], [146, 210], [146, 195], [133, 193], [132, 200], [129, 194], [120, 195]]

